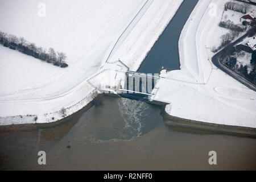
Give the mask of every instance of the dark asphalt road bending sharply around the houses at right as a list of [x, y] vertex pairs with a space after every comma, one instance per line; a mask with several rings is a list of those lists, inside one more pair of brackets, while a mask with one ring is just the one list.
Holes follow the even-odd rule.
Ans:
[[[229, 44], [234, 46], [235, 44], [237, 44], [238, 42], [241, 42], [242, 39], [244, 39], [247, 36], [247, 34], [241, 36], [241, 38], [237, 39], [235, 42]], [[227, 46], [228, 47], [228, 46]], [[212, 63], [219, 69], [221, 69], [222, 71], [224, 71], [225, 73], [227, 73], [228, 75], [232, 76], [233, 78], [235, 78], [236, 80], [240, 81], [243, 85], [247, 86], [248, 88], [254, 90], [256, 92], [256, 86], [251, 84], [251, 82], [247, 81], [245, 78], [241, 77], [240, 75], [237, 75], [237, 73], [233, 72], [232, 70], [226, 68], [224, 65], [222, 65], [220, 63], [220, 55], [223, 51], [225, 51], [226, 48], [222, 49], [220, 52], [216, 53], [216, 55], [214, 55], [212, 57]]]

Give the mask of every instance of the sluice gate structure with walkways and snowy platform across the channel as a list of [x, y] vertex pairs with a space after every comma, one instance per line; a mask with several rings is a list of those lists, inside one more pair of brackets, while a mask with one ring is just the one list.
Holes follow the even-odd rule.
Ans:
[[121, 60], [105, 63], [99, 71], [87, 81], [94, 88], [106, 95], [125, 97], [146, 101], [158, 105], [166, 105], [164, 101], [156, 101], [158, 93], [158, 73], [141, 73], [130, 71]]

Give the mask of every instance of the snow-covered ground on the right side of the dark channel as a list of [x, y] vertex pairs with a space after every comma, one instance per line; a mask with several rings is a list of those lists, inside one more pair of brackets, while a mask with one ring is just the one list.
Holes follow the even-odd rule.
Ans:
[[210, 47], [224, 34], [218, 23], [227, 1], [199, 0], [181, 32], [181, 70], [162, 72], [154, 98], [169, 102], [166, 111], [175, 117], [255, 128], [256, 92], [210, 61]]

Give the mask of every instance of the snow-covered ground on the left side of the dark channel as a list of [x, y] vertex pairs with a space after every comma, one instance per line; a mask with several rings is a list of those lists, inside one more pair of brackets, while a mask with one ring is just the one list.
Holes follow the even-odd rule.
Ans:
[[[69, 65], [57, 68], [1, 47], [0, 125], [53, 122], [64, 117], [63, 107], [66, 115], [84, 107], [96, 92], [88, 80], [93, 77], [104, 85], [105, 77], [96, 76], [108, 72], [102, 71], [109, 67], [105, 61], [138, 12], [142, 10], [109, 63], [120, 56], [125, 64], [138, 68], [181, 2], [46, 0], [46, 16], [39, 16], [41, 1], [0, 0], [1, 31], [23, 36], [38, 47], [65, 52]], [[143, 48], [138, 51], [138, 47]]]

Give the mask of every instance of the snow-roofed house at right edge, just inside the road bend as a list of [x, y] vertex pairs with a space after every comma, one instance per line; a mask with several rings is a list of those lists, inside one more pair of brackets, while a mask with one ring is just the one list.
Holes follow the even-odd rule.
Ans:
[[246, 52], [253, 52], [256, 50], [256, 38], [245, 38], [242, 42], [237, 43], [234, 47], [236, 47], [237, 50], [242, 50]]

